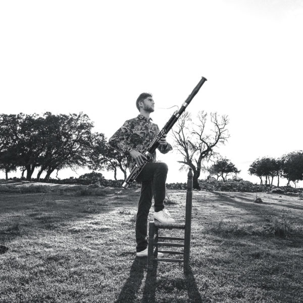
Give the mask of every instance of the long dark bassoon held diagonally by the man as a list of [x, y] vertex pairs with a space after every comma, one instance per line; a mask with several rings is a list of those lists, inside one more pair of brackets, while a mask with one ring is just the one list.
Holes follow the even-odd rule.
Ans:
[[162, 130], [157, 134], [157, 136], [154, 138], [154, 140], [149, 144], [149, 146], [147, 147], [147, 149], [144, 153], [144, 156], [147, 158], [147, 161], [141, 166], [137, 166], [137, 164], [135, 165], [135, 167], [130, 172], [130, 175], [126, 178], [126, 180], [122, 184], [123, 188], [126, 189], [129, 186], [129, 184], [139, 176], [139, 174], [142, 171], [145, 164], [147, 162], [151, 161], [151, 159], [152, 159], [151, 156], [153, 155], [153, 153], [157, 149], [157, 147], [160, 145], [159, 140], [171, 130], [171, 128], [174, 126], [174, 124], [177, 122], [179, 117], [182, 115], [182, 113], [188, 107], [189, 103], [191, 102], [191, 100], [196, 95], [196, 93], [199, 91], [199, 89], [201, 88], [201, 86], [204, 84], [205, 81], [207, 81], [207, 79], [202, 77], [202, 79], [199, 81], [199, 83], [196, 85], [196, 87], [192, 90], [190, 95], [187, 97], [185, 102], [182, 104], [179, 111], [176, 111], [171, 116], [171, 118], [168, 120], [168, 122], [162, 128]]

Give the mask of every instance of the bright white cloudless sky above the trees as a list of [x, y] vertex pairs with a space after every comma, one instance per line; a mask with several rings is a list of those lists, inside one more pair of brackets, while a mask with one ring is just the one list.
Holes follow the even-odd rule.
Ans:
[[[141, 92], [181, 106], [204, 76], [188, 111], [228, 115], [218, 151], [259, 182], [252, 161], [303, 148], [302, 28], [300, 0], [2, 1], [1, 112], [82, 111], [109, 138], [138, 115]], [[162, 128], [173, 112], [151, 117]], [[180, 156], [160, 158], [168, 182], [186, 181]]]

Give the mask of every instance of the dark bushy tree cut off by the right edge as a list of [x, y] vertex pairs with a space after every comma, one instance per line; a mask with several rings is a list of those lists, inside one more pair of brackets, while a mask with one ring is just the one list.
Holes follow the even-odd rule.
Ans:
[[290, 182], [296, 183], [303, 180], [303, 151], [292, 151], [292, 153], [281, 157], [283, 163], [283, 177], [287, 179], [287, 186]]

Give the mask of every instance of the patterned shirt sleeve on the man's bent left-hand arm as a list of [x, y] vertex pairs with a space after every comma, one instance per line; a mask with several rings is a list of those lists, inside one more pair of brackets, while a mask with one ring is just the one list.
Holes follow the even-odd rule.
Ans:
[[121, 128], [109, 139], [109, 144], [126, 156], [129, 155], [129, 151], [132, 149], [132, 145], [130, 144], [130, 129], [130, 122], [125, 121]]

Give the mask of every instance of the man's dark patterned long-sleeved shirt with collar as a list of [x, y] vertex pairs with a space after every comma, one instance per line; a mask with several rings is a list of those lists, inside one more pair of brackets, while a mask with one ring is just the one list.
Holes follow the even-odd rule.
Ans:
[[[136, 118], [125, 121], [122, 127], [109, 139], [109, 144], [126, 156], [128, 168], [132, 170], [135, 166], [135, 161], [130, 157], [129, 151], [136, 149], [141, 154], [144, 154], [159, 131], [158, 125], [151, 118], [147, 121], [140, 114]], [[158, 149], [162, 154], [166, 154], [173, 148], [167, 143], [167, 145], [160, 144]], [[156, 162], [156, 151], [151, 156], [151, 162]]]

